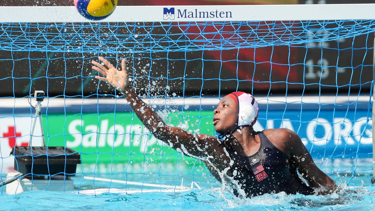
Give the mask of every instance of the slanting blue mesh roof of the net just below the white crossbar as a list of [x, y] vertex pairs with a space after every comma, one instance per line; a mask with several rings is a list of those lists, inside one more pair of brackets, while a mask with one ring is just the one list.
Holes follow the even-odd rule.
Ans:
[[374, 20], [2, 23], [0, 44], [10, 51], [75, 53], [229, 50], [351, 38], [374, 32], [373, 24]]

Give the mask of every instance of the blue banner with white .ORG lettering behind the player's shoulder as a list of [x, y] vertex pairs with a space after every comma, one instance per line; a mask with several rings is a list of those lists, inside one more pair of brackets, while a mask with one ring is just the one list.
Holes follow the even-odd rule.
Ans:
[[295, 131], [315, 159], [372, 157], [372, 118], [367, 110], [260, 111], [256, 130]]

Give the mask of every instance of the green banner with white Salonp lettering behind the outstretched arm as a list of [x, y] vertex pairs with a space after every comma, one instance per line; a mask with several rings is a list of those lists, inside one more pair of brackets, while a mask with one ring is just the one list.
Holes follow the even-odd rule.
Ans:
[[[159, 113], [168, 125], [190, 133], [214, 135], [212, 111]], [[43, 116], [47, 146], [66, 146], [81, 153], [82, 163], [142, 163], [191, 165], [184, 157], [151, 135], [132, 113]], [[193, 141], [193, 140], [192, 140]]]

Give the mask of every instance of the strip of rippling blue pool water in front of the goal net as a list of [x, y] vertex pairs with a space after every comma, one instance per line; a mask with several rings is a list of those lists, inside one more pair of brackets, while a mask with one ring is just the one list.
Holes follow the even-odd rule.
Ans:
[[[343, 188], [344, 189], [344, 188]], [[96, 197], [55, 191], [27, 191], [0, 196], [0, 210], [375, 210], [375, 187], [345, 188], [327, 196], [264, 194], [254, 198], [233, 197], [220, 188], [181, 193], [104, 193]]]

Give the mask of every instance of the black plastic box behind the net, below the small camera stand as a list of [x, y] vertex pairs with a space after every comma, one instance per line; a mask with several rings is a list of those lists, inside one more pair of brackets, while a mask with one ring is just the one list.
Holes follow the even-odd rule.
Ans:
[[66, 174], [75, 174], [81, 164], [81, 155], [64, 147], [16, 146], [10, 154], [14, 155], [14, 170], [24, 175], [69, 176]]

